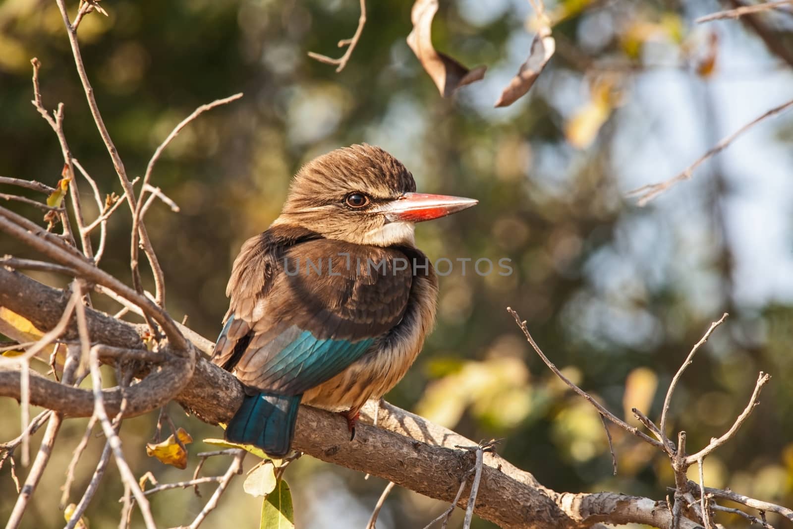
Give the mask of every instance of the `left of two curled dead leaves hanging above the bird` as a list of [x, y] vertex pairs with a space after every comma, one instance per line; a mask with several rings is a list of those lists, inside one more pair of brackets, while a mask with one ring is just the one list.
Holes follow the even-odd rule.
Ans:
[[432, 19], [438, 12], [438, 0], [416, 0], [410, 12], [413, 29], [408, 35], [408, 46], [416, 54], [421, 66], [430, 75], [442, 97], [448, 98], [460, 86], [485, 77], [486, 66], [469, 70], [432, 45]]

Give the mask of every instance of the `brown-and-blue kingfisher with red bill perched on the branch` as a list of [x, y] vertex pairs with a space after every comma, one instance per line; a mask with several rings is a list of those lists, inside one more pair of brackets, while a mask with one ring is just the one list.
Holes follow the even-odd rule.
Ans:
[[288, 454], [301, 402], [339, 412], [354, 439], [363, 404], [397, 385], [435, 324], [438, 279], [414, 224], [476, 204], [416, 193], [404, 165], [368, 144], [302, 167], [232, 266], [212, 361], [245, 397], [226, 439]]

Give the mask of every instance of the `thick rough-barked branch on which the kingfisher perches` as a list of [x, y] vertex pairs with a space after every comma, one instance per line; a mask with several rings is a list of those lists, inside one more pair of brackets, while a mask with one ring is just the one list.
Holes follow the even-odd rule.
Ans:
[[[57, 308], [63, 303], [59, 290], [40, 285], [22, 274], [0, 270], [0, 304], [33, 320], [41, 330], [46, 331], [57, 323], [60, 319]], [[92, 334], [94, 341], [102, 336], [105, 345], [111, 347], [142, 347], [136, 332], [138, 329], [143, 332], [142, 326], [136, 328], [90, 309], [86, 309], [86, 316], [89, 328], [96, 333]], [[67, 329], [67, 334], [71, 332], [75, 332], [73, 323]], [[196, 341], [197, 348], [206, 347], [205, 339]], [[243, 398], [239, 381], [205, 358], [199, 358], [193, 377], [186, 384], [187, 377], [181, 367], [187, 363], [174, 356], [139, 384], [126, 388], [125, 416], [154, 409], [163, 404], [163, 397], [178, 391], [175, 399], [202, 420], [228, 421]], [[18, 382], [18, 372], [0, 371], [0, 395], [18, 398]], [[56, 408], [67, 416], [91, 416], [94, 412], [90, 391], [57, 384], [35, 374], [30, 386], [33, 404]], [[102, 394], [107, 412], [117, 413], [120, 391], [105, 389]], [[370, 403], [364, 415], [373, 410], [374, 403]], [[474, 455], [455, 449], [457, 445], [476, 443], [385, 403], [380, 406], [377, 427], [360, 424], [353, 442], [339, 416], [303, 406], [294, 440], [294, 447], [306, 454], [384, 477], [406, 489], [447, 502], [454, 500], [462, 477], [474, 463]], [[604, 521], [647, 523], [655, 527], [672, 525], [671, 514], [663, 502], [615, 493], [556, 493], [497, 454], [485, 453], [484, 464], [475, 512], [505, 527], [578, 529]], [[468, 496], [464, 493], [458, 505], [465, 508]], [[699, 526], [683, 519], [680, 527]]]

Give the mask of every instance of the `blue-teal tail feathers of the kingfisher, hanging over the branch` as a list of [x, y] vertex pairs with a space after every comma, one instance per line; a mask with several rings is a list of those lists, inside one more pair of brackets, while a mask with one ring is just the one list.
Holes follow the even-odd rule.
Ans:
[[288, 454], [302, 397], [302, 394], [247, 395], [226, 427], [226, 439], [232, 443], [255, 445], [268, 455]]

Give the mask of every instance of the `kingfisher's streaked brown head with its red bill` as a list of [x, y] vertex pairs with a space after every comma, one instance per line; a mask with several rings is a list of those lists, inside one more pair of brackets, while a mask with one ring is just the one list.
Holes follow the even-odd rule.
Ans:
[[412, 244], [413, 224], [476, 205], [470, 198], [416, 193], [413, 176], [388, 152], [353, 145], [307, 163], [289, 186], [281, 216], [334, 240]]

